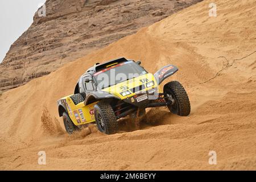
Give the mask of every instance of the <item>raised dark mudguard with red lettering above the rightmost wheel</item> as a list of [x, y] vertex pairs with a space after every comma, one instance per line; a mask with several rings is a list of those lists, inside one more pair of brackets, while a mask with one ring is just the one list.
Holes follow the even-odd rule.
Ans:
[[156, 82], [160, 85], [166, 78], [174, 75], [179, 69], [175, 65], [166, 65], [163, 68], [159, 69], [155, 74]]

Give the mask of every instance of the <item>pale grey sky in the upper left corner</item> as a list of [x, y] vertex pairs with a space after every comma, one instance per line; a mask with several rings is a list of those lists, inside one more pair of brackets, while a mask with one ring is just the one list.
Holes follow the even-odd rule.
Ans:
[[0, 1], [0, 63], [11, 44], [27, 30], [39, 5], [46, 0], [1, 0]]

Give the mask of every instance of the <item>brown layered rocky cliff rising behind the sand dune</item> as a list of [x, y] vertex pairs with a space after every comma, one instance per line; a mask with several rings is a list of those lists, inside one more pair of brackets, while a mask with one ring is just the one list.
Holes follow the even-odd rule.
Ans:
[[46, 16], [35, 13], [32, 25], [0, 64], [0, 90], [48, 75], [199, 1], [47, 0]]

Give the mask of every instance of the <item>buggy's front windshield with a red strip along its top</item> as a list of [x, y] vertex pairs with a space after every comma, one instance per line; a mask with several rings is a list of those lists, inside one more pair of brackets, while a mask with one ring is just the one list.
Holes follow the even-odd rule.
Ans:
[[146, 73], [147, 71], [134, 61], [127, 61], [94, 73], [94, 78], [98, 88], [104, 89]]

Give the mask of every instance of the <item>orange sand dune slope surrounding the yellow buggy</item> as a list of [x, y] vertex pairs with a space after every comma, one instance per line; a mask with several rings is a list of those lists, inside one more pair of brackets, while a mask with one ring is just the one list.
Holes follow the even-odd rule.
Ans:
[[[203, 1], [0, 97], [0, 169], [256, 169], [256, 1]], [[125, 56], [150, 72], [179, 67], [171, 80], [192, 112], [149, 110], [154, 125], [104, 135], [94, 126], [71, 137], [56, 101], [73, 92], [96, 61]], [[45, 129], [51, 128], [47, 132]], [[56, 133], [54, 132], [56, 131]], [[38, 165], [46, 151], [47, 165]], [[217, 152], [217, 165], [208, 153]]]

